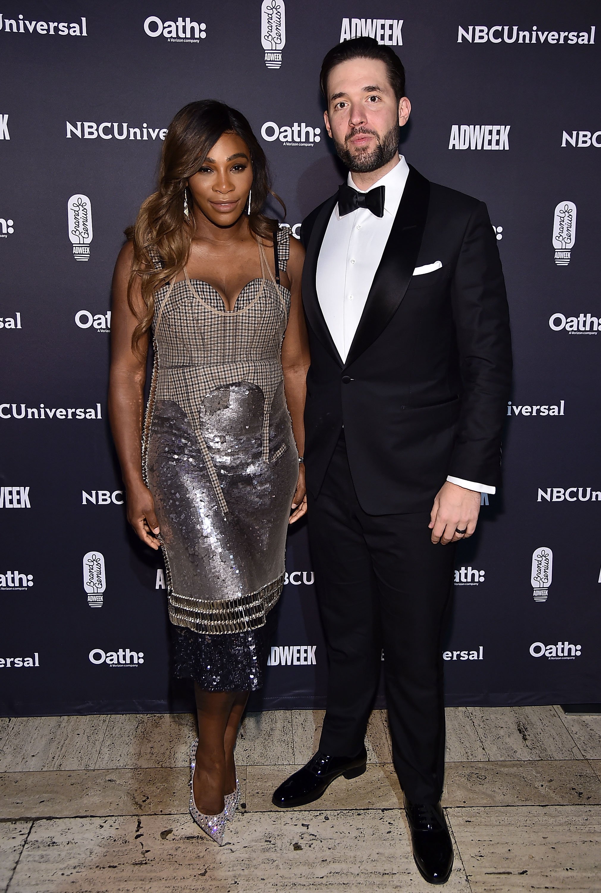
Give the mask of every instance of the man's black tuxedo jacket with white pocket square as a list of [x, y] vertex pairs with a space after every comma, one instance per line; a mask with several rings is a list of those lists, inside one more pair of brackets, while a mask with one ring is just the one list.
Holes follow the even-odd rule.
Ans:
[[[366, 513], [429, 512], [447, 475], [497, 486], [511, 341], [486, 205], [410, 167], [343, 363], [316, 288], [317, 258], [336, 201], [320, 204], [301, 228], [311, 352], [309, 493], [319, 493], [342, 426]], [[440, 270], [413, 275], [415, 267], [436, 261]]]

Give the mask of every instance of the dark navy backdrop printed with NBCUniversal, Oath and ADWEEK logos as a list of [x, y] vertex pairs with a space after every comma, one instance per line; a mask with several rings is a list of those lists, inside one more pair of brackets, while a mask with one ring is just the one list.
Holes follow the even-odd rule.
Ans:
[[[136, 541], [107, 424], [111, 272], [184, 104], [241, 109], [284, 225], [342, 180], [317, 76], [370, 35], [405, 63], [401, 150], [487, 202], [515, 345], [505, 487], [460, 547], [449, 705], [597, 702], [601, 115], [596, 3], [6, 0], [0, 10], [0, 707], [166, 711], [165, 577]], [[306, 530], [289, 537], [255, 707], [324, 705]]]

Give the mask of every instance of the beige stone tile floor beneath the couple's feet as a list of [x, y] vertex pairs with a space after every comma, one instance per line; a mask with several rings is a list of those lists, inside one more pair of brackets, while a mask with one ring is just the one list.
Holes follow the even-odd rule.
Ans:
[[[449, 708], [447, 890], [601, 891], [601, 716]], [[193, 716], [0, 719], [0, 890], [355, 893], [432, 889], [416, 870], [382, 711], [368, 768], [313, 805], [270, 793], [316, 747], [321, 711], [249, 714], [243, 809], [217, 847], [187, 814]]]

